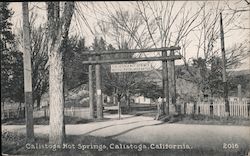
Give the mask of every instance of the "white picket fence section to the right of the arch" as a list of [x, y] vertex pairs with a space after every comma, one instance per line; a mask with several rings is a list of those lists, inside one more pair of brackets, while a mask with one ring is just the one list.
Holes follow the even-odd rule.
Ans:
[[[223, 99], [216, 99], [212, 104], [209, 102], [187, 103], [185, 106], [186, 114], [203, 114], [223, 117], [226, 116], [225, 103]], [[250, 104], [247, 100], [229, 101], [230, 116], [233, 117], [250, 117]]]

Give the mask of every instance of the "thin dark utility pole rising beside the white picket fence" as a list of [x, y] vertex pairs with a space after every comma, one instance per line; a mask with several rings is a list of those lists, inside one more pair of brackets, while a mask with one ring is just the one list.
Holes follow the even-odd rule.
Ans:
[[227, 77], [226, 77], [226, 54], [225, 54], [225, 42], [224, 42], [224, 30], [222, 22], [222, 14], [220, 13], [220, 36], [221, 36], [221, 53], [222, 53], [222, 79], [224, 86], [224, 101], [225, 101], [225, 112], [226, 116], [230, 116], [230, 108], [228, 101], [228, 86], [227, 86]]

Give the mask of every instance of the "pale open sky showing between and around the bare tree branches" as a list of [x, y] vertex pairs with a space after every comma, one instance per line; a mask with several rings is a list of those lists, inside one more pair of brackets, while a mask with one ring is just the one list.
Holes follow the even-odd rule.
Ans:
[[[177, 1], [174, 7], [174, 11], [178, 10], [180, 6], [183, 5], [187, 1]], [[191, 8], [192, 12], [198, 10], [199, 4], [204, 1], [189, 1], [186, 4], [186, 8]], [[156, 4], [156, 2], [150, 2], [152, 6]], [[160, 3], [159, 1], [157, 3]], [[218, 1], [209, 1], [206, 9], [210, 9]], [[231, 0], [228, 1], [227, 4], [232, 8], [240, 8], [245, 7], [246, 4], [244, 1]], [[166, 5], [164, 1], [162, 1], [161, 5]], [[222, 7], [226, 7], [226, 4], [221, 4]], [[77, 11], [74, 14], [72, 19], [70, 34], [78, 34], [81, 37], [84, 37], [86, 40], [87, 46], [90, 46], [93, 42], [93, 38], [95, 36], [101, 36], [99, 29], [97, 27], [97, 20], [106, 20], [107, 15], [113, 13], [121, 7], [122, 10], [128, 10], [129, 12], [133, 12], [135, 6], [130, 2], [122, 1], [122, 2], [77, 2]], [[249, 6], [250, 7], [250, 6]], [[13, 23], [13, 31], [17, 32], [17, 30], [22, 28], [22, 6], [20, 2], [12, 2], [10, 3], [10, 8], [14, 11], [14, 15], [12, 17]], [[31, 2], [29, 3], [30, 15], [32, 13], [36, 14], [36, 24], [39, 25], [41, 23], [45, 23], [46, 18], [46, 5], [44, 2]], [[224, 16], [226, 16], [228, 12], [224, 12]], [[151, 15], [149, 13], [149, 15]], [[250, 28], [250, 20], [249, 20], [250, 12], [244, 13], [239, 19], [236, 20], [236, 24], [244, 25], [244, 27]], [[178, 23], [178, 21], [177, 21]], [[218, 23], [219, 24], [219, 21]], [[225, 26], [227, 27], [227, 26]], [[231, 28], [231, 27], [230, 27]], [[248, 30], [232, 30], [225, 35], [225, 46], [226, 49], [234, 44], [240, 44], [245, 40], [250, 40], [250, 29]], [[192, 58], [196, 56], [196, 40], [194, 35], [190, 35], [189, 38], [190, 44], [187, 48], [187, 58]], [[107, 42], [111, 43], [112, 41], [107, 39]], [[216, 45], [220, 46], [220, 42]], [[249, 50], [250, 47], [248, 47]], [[177, 61], [176, 64], [182, 64], [182, 61]], [[250, 69], [250, 57], [244, 60], [244, 64], [240, 67], [240, 69]]]

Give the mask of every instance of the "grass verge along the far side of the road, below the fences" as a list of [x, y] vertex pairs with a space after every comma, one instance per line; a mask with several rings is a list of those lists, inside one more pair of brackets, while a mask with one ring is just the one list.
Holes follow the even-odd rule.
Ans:
[[[155, 117], [156, 110], [148, 111], [132, 111], [128, 113], [135, 116], [147, 116]], [[106, 119], [107, 120], [107, 119]], [[237, 118], [237, 117], [218, 117], [218, 116], [206, 116], [206, 115], [171, 115], [165, 116], [161, 119], [164, 122], [169, 123], [181, 123], [181, 124], [199, 124], [199, 125], [239, 125], [250, 126], [249, 118]], [[89, 122], [98, 122], [99, 120], [90, 120], [79, 117], [65, 116], [65, 124], [84, 124]], [[2, 120], [2, 124], [5, 125], [24, 125], [25, 119], [8, 119]], [[35, 125], [48, 125], [49, 117], [34, 118]]]

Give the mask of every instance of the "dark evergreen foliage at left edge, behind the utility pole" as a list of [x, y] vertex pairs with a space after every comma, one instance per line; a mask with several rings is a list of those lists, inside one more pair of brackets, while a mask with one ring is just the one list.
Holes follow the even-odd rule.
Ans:
[[16, 50], [10, 18], [13, 12], [8, 9], [9, 3], [0, 3], [0, 48], [1, 48], [1, 102], [6, 98], [23, 102], [22, 53]]

